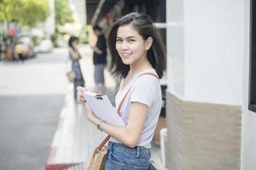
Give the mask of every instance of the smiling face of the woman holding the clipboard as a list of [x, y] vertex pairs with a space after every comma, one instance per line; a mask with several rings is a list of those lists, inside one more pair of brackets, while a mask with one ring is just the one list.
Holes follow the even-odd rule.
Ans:
[[147, 47], [143, 37], [131, 25], [119, 26], [115, 48], [125, 65], [132, 65], [146, 57]]

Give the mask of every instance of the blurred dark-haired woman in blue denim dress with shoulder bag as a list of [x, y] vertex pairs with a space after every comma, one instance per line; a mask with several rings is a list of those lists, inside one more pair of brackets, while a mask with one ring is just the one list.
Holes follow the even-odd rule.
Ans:
[[77, 87], [84, 87], [84, 77], [80, 68], [79, 59], [81, 59], [81, 54], [78, 50], [79, 38], [71, 36], [68, 40], [68, 54], [69, 59], [72, 60], [72, 70], [75, 73], [75, 79], [73, 82], [73, 98], [77, 103]]

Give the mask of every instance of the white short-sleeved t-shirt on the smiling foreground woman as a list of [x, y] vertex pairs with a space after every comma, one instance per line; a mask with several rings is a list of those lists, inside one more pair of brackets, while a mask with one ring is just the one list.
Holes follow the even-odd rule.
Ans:
[[[120, 116], [127, 125], [130, 115], [131, 102], [140, 102], [148, 105], [147, 118], [143, 125], [142, 136], [138, 142], [138, 146], [143, 146], [146, 148], [151, 147], [151, 141], [154, 136], [154, 130], [157, 125], [160, 109], [162, 105], [162, 94], [160, 88], [160, 81], [157, 77], [152, 75], [143, 75], [144, 73], [154, 73], [154, 69], [145, 69], [137, 75], [135, 75], [130, 82], [128, 82], [125, 87], [122, 87], [123, 80], [120, 82], [119, 92], [115, 97], [115, 104], [117, 108], [119, 103], [124, 98], [125, 94], [131, 88], [130, 92], [127, 94], [125, 101], [120, 109]], [[139, 112], [137, 114], [140, 114]], [[110, 141], [118, 142], [118, 140], [111, 138]]]

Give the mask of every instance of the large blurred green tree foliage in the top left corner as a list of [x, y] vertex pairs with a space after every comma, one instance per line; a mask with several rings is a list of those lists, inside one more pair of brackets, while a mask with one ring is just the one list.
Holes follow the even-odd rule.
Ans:
[[0, 0], [0, 21], [18, 26], [35, 26], [49, 15], [47, 0]]

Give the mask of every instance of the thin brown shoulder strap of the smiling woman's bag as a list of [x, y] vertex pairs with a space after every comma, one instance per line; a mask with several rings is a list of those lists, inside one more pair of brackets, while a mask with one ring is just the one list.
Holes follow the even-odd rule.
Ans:
[[[145, 72], [145, 73], [141, 74], [139, 77], [142, 77], [143, 75], [150, 75], [150, 76], [153, 76], [153, 77], [156, 77], [157, 79], [159, 79], [159, 77], [156, 74], [152, 73], [152, 72]], [[129, 90], [126, 92], [125, 96], [123, 97], [123, 99], [121, 99], [121, 102], [120, 102], [119, 107], [118, 107], [119, 116], [120, 116], [119, 112], [122, 108], [122, 105], [124, 104], [124, 101], [125, 101], [125, 98], [126, 98], [127, 94], [129, 94], [130, 90], [131, 90], [131, 88], [129, 88]], [[93, 156], [95, 156], [96, 153], [99, 152], [102, 149], [102, 147], [108, 142], [109, 139], [110, 139], [110, 135], [108, 135], [105, 139], [103, 139], [102, 143], [94, 151]]]

